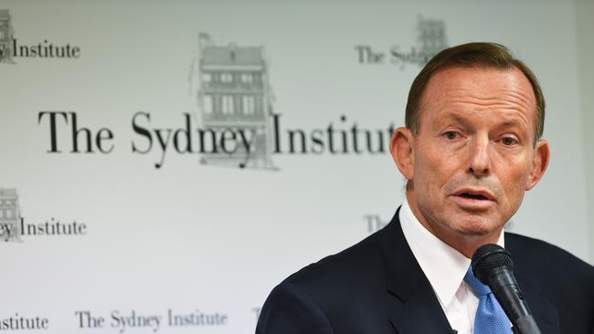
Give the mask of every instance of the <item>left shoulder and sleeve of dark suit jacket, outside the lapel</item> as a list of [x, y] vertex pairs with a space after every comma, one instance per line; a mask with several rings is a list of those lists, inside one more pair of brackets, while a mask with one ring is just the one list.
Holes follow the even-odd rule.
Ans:
[[[376, 236], [370, 235], [303, 267], [270, 293], [260, 313], [260, 332], [384, 332], [391, 308], [386, 307], [390, 295], [381, 261]], [[366, 321], [356, 321], [360, 318]], [[281, 324], [278, 331], [264, 330], [274, 324]]]

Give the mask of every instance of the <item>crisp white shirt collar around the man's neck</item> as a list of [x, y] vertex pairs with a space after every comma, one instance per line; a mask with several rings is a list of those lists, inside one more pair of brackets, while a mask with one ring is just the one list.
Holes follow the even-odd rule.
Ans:
[[[405, 197], [398, 214], [402, 232], [412, 254], [429, 279], [431, 287], [442, 306], [451, 303], [471, 265], [471, 259], [432, 235], [412, 213]], [[504, 234], [499, 235], [497, 245], [504, 246]]]

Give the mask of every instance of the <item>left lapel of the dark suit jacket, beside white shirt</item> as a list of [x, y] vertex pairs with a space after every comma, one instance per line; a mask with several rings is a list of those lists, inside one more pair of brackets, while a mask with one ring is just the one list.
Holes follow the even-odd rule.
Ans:
[[398, 212], [399, 209], [392, 222], [377, 234], [377, 245], [386, 268], [387, 293], [396, 300], [390, 317], [392, 326], [398, 334], [451, 333], [440, 302], [408, 247]]

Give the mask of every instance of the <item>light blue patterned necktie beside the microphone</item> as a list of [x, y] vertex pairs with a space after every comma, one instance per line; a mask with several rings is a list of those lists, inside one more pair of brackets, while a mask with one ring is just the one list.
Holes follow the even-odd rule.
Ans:
[[474, 317], [474, 334], [511, 334], [510, 321], [504, 309], [493, 296], [491, 289], [474, 275], [469, 267], [464, 277], [464, 282], [479, 296], [479, 308]]

